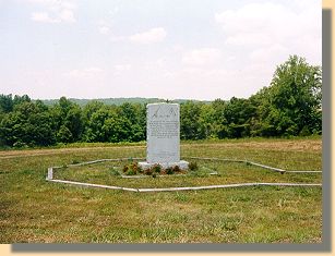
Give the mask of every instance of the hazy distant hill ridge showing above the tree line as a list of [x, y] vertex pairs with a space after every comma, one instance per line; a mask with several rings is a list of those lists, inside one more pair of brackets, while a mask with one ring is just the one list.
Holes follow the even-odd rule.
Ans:
[[[58, 102], [59, 99], [41, 99], [41, 101], [48, 106], [55, 105]], [[72, 102], [77, 103], [81, 107], [84, 107], [85, 105], [87, 105], [89, 101], [99, 101], [103, 102], [105, 105], [117, 105], [120, 106], [124, 102], [130, 102], [130, 103], [153, 103], [153, 102], [165, 102], [166, 99], [159, 99], [159, 98], [140, 98], [140, 97], [135, 97], [135, 98], [101, 98], [101, 99], [76, 99], [76, 98], [69, 98], [69, 100], [71, 100]], [[170, 100], [170, 102], [175, 102], [175, 103], [182, 103], [188, 101], [189, 99], [175, 99], [175, 100]], [[196, 101], [196, 102], [204, 102], [204, 103], [208, 103], [211, 102], [210, 100], [193, 100], [192, 101]]]

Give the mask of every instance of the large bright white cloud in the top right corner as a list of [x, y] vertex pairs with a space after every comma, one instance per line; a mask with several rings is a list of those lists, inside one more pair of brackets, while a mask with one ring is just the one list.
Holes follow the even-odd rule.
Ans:
[[268, 46], [276, 42], [290, 44], [303, 35], [321, 37], [321, 2], [284, 5], [279, 2], [249, 3], [238, 10], [215, 14], [225, 32], [226, 44]]

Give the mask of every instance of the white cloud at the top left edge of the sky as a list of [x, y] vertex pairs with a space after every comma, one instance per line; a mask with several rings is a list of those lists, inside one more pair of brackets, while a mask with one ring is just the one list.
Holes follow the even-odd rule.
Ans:
[[74, 23], [74, 10], [76, 5], [72, 1], [58, 0], [29, 0], [29, 2], [43, 8], [44, 11], [33, 12], [31, 19], [45, 23]]

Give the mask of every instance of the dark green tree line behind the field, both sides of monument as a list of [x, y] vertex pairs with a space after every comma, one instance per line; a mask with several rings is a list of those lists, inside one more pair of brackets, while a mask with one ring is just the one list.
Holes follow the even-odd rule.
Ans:
[[[322, 71], [290, 56], [273, 80], [248, 99], [232, 97], [180, 105], [181, 139], [306, 136], [322, 132]], [[141, 142], [146, 105], [84, 107], [65, 97], [52, 106], [28, 96], [0, 95], [0, 146], [49, 146], [74, 142]]]

